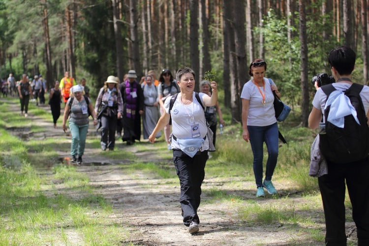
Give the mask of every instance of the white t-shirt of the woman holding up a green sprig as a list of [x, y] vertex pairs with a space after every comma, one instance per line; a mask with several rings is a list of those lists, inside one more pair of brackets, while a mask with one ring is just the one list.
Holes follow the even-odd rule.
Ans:
[[[205, 138], [208, 128], [205, 122], [205, 112], [200, 103], [197, 102], [195, 92], [193, 92], [193, 102], [184, 105], [181, 102], [180, 94], [177, 95], [177, 99], [174, 101], [172, 110], [170, 112], [172, 117], [172, 131], [173, 135], [178, 139], [192, 139], [192, 125], [199, 125], [200, 137]], [[199, 93], [201, 103], [204, 105], [204, 97], [208, 96], [205, 93]], [[164, 102], [164, 109], [169, 114], [169, 103], [172, 96], [168, 97]], [[204, 105], [205, 106], [205, 105]], [[180, 149], [177, 142], [172, 139], [172, 149]], [[201, 151], [209, 149], [209, 141], [205, 138]]]

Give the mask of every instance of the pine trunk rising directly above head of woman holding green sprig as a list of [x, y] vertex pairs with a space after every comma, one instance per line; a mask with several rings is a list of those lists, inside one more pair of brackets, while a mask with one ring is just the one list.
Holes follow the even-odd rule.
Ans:
[[195, 91], [199, 92], [199, 23], [197, 21], [199, 12], [198, 0], [189, 0], [189, 15], [190, 15], [190, 58], [191, 68], [195, 72]]

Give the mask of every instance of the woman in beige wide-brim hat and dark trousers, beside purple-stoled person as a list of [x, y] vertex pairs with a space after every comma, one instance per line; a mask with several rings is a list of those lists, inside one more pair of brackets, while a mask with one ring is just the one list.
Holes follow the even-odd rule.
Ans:
[[109, 76], [96, 98], [95, 112], [101, 124], [101, 150], [114, 150], [118, 119], [122, 118], [123, 100], [115, 76]]

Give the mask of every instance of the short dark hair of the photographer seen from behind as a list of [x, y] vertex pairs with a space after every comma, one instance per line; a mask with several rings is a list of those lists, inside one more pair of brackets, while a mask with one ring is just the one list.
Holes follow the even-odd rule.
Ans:
[[355, 67], [356, 54], [347, 46], [341, 46], [331, 50], [328, 62], [339, 75], [351, 74]]

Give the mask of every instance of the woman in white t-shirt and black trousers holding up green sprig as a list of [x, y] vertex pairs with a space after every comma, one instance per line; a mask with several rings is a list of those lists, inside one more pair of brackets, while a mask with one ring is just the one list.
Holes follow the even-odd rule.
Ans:
[[[176, 79], [181, 92], [165, 100], [164, 113], [149, 137], [150, 142], [154, 143], [156, 133], [163, 129], [172, 118], [171, 148], [174, 166], [181, 184], [180, 203], [183, 222], [189, 227], [189, 233], [199, 231], [200, 220], [197, 209], [200, 205], [201, 184], [205, 177], [205, 164], [209, 149], [205, 112], [196, 99], [194, 77], [195, 73], [189, 67], [177, 71]], [[205, 107], [214, 106], [218, 100], [215, 81], [211, 82], [211, 87], [213, 89], [211, 97], [205, 93], [199, 93], [198, 98]], [[176, 99], [169, 111], [172, 97]]]

